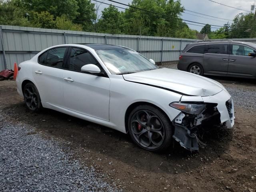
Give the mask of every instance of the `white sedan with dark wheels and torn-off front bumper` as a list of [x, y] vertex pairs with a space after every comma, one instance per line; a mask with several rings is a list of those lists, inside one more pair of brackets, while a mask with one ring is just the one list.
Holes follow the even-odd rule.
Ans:
[[29, 110], [50, 108], [129, 132], [151, 151], [165, 150], [173, 138], [198, 150], [201, 130], [234, 125], [232, 98], [220, 83], [160, 68], [122, 46], [52, 46], [20, 63], [16, 82]]

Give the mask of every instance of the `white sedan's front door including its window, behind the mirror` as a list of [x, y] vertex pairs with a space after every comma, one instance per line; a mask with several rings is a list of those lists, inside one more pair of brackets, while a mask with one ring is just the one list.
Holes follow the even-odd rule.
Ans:
[[68, 70], [63, 72], [65, 108], [109, 121], [110, 79], [81, 72], [86, 64], [98, 62], [82, 48], [70, 48]]

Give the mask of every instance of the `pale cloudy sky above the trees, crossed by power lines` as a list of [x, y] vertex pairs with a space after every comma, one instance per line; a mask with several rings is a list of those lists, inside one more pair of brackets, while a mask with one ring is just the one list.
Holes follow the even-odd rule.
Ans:
[[[117, 3], [113, 3], [110, 2], [108, 0], [99, 0], [108, 4], [112, 4], [115, 6], [120, 6], [123, 8], [128, 8], [127, 6], [123, 6]], [[117, 2], [121, 2], [124, 4], [128, 4], [131, 3], [132, 0], [115, 0]], [[236, 7], [236, 8], [240, 8], [243, 10], [248, 10], [250, 11], [251, 9], [251, 5], [253, 5], [255, 3], [255, 0], [214, 0], [215, 2], [219, 2], [222, 4], [226, 4], [232, 7]], [[92, 0], [92, 2], [94, 2]], [[232, 3], [231, 3], [232, 2]], [[96, 3], [96, 2], [94, 2]], [[194, 22], [199, 22], [199, 23], [204, 23], [204, 24], [211, 24], [211, 25], [217, 25], [217, 26], [223, 26], [223, 24], [226, 24], [227, 22], [229, 22], [230, 24], [232, 23], [232, 20], [234, 19], [234, 17], [237, 14], [240, 13], [249, 13], [246, 11], [242, 11], [242, 10], [238, 10], [238, 9], [234, 9], [234, 8], [230, 8], [227, 6], [223, 6], [214, 2], [211, 2], [209, 0], [181, 0], [182, 6], [184, 6], [184, 8], [186, 9], [184, 13], [182, 13], [181, 18], [184, 20], [190, 20], [190, 21], [194, 21]], [[99, 4], [99, 3], [98, 3]], [[255, 3], [256, 5], [256, 3]], [[106, 4], [101, 4], [100, 5], [100, 11], [103, 10], [105, 7], [108, 7], [108, 5]], [[120, 11], [124, 10], [124, 9], [120, 9], [118, 8]], [[194, 11], [194, 12], [198, 12], [198, 13], [202, 13], [202, 14], [207, 14], [210, 16], [214, 16], [214, 17], [218, 17], [218, 18], [212, 18], [209, 16], [204, 16], [201, 14], [195, 14], [193, 12], [189, 12], [190, 11]], [[255, 11], [255, 9], [254, 9]], [[254, 12], [253, 11], [253, 12]], [[189, 13], [189, 14], [187, 14]], [[190, 14], [194, 14], [194, 15], [190, 15]], [[203, 18], [205, 17], [205, 18]], [[219, 18], [224, 18], [224, 19], [228, 19], [228, 20], [223, 20], [223, 19], [219, 19]], [[212, 20], [213, 19], [213, 20]], [[189, 22], [186, 22], [189, 23]], [[196, 23], [195, 23], [196, 24]], [[202, 25], [204, 26], [204, 24], [197, 24], [197, 25]], [[202, 29], [202, 26], [194, 26], [194, 25], [188, 25], [191, 29], [195, 29], [200, 31]], [[214, 26], [212, 26], [212, 31], [216, 30], [216, 28], [213, 28]]]

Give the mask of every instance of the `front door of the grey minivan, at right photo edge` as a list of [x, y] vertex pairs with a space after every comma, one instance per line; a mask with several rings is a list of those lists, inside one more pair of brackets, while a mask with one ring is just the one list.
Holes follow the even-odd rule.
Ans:
[[248, 56], [254, 49], [241, 45], [230, 44], [228, 75], [254, 77], [256, 74], [256, 58]]

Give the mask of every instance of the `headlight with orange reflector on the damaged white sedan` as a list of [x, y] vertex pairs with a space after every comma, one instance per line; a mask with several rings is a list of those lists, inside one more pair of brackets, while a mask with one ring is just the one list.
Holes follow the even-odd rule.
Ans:
[[169, 104], [171, 107], [181, 110], [189, 114], [200, 114], [205, 108], [206, 104], [192, 104], [192, 103], [180, 103], [173, 102]]

